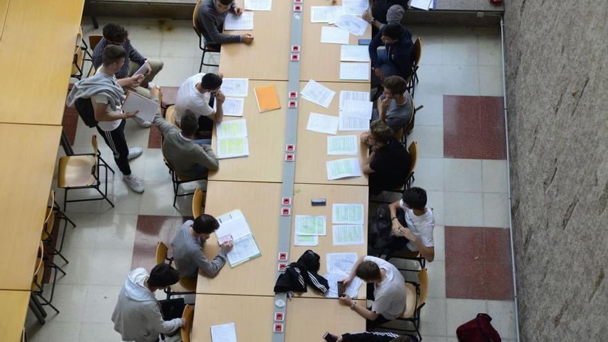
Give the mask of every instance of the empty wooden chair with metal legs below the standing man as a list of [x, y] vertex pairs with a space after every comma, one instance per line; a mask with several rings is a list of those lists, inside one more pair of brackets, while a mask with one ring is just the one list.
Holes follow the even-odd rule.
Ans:
[[[91, 145], [93, 145], [93, 153], [66, 155], [59, 158], [57, 187], [64, 189], [64, 210], [66, 210], [68, 202], [84, 202], [89, 200], [106, 200], [114, 207], [114, 204], [107, 196], [108, 169], [112, 173], [114, 173], [114, 170], [108, 166], [108, 163], [102, 158], [102, 153], [97, 148], [97, 135], [91, 137]], [[106, 171], [104, 191], [99, 189], [99, 186], [102, 184], [101, 180], [99, 180], [99, 167], [104, 167]], [[95, 189], [102, 197], [68, 200], [68, 190], [73, 189]]]

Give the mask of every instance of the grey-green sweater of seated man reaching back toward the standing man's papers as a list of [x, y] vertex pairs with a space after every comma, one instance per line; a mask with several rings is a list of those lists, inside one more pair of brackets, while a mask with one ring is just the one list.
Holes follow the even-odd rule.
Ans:
[[171, 162], [178, 175], [199, 177], [201, 165], [209, 170], [219, 169], [220, 162], [210, 145], [198, 145], [187, 140], [182, 136], [180, 129], [164, 120], [159, 113], [154, 117], [154, 124], [164, 137], [162, 142], [164, 158]]

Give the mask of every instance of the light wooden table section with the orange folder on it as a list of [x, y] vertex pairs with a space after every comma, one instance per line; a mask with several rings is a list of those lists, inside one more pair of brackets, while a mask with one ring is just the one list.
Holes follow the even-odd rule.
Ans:
[[[260, 113], [254, 95], [256, 86], [274, 84], [281, 108]], [[243, 117], [225, 116], [224, 121], [245, 119], [249, 156], [220, 160], [218, 171], [209, 171], [209, 180], [249, 182], [282, 182], [285, 153], [285, 124], [287, 122], [287, 82], [249, 80], [249, 95], [245, 98]], [[218, 151], [213, 134], [213, 151]]]

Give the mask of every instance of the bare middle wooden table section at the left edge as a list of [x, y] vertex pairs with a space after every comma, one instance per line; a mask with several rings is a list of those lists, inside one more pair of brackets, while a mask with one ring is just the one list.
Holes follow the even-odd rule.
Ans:
[[61, 126], [0, 124], [0, 289], [29, 291]]

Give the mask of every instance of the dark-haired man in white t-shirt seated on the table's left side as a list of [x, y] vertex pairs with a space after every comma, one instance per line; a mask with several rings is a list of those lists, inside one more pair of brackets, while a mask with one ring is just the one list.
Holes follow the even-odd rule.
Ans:
[[[186, 113], [193, 113], [198, 120], [199, 131], [213, 131], [213, 122], [222, 122], [223, 104], [226, 97], [220, 90], [222, 75], [198, 73], [188, 77], [175, 96], [175, 121], [182, 123]], [[211, 95], [215, 95], [216, 109], [209, 105]]]

